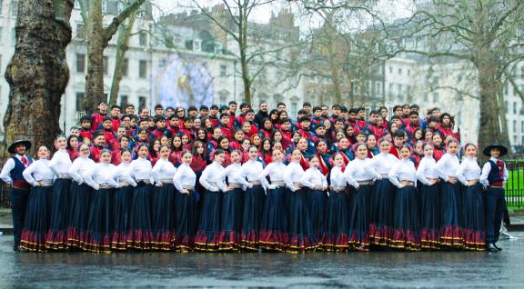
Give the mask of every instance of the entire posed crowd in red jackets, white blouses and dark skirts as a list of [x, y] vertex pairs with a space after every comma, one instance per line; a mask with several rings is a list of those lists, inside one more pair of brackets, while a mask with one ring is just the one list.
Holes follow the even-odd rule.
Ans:
[[15, 251], [501, 250], [508, 149], [480, 168], [451, 115], [239, 108], [101, 102], [37, 160], [15, 141]]

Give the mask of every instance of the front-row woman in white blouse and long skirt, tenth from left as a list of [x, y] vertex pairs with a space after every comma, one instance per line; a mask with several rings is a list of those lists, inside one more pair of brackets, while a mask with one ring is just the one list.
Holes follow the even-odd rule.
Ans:
[[227, 165], [222, 177], [227, 179], [229, 191], [224, 193], [220, 214], [220, 234], [218, 250], [237, 251], [240, 249], [240, 231], [242, 230], [242, 204], [247, 187], [253, 186], [247, 182], [242, 172], [242, 153], [231, 151], [231, 164]]

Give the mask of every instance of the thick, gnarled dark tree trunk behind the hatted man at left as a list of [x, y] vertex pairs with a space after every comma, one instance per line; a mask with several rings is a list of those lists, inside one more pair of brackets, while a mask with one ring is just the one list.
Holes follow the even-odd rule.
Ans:
[[[21, 0], [16, 18], [15, 55], [5, 71], [10, 86], [5, 145], [24, 137], [54, 150], [60, 133], [60, 100], [69, 80], [65, 47], [71, 41], [73, 0]], [[5, 155], [5, 152], [3, 152]]]

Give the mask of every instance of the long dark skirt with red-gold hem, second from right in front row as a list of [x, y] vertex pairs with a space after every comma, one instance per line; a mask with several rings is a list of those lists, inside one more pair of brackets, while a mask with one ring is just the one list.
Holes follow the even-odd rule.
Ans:
[[461, 186], [444, 182], [440, 191], [440, 244], [462, 248], [464, 234], [462, 232]]

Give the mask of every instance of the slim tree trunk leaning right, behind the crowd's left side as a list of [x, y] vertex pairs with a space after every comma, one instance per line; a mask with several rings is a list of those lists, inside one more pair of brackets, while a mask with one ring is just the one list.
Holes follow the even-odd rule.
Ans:
[[[118, 34], [118, 42], [116, 43], [116, 61], [115, 72], [113, 73], [113, 83], [111, 84], [111, 93], [109, 94], [109, 106], [116, 105], [118, 99], [118, 92], [120, 90], [120, 81], [122, 80], [122, 65], [126, 57], [127, 48], [129, 48], [129, 36], [135, 24], [136, 13], [129, 17], [127, 25], [122, 25], [120, 33]], [[124, 109], [125, 107], [122, 107]]]

